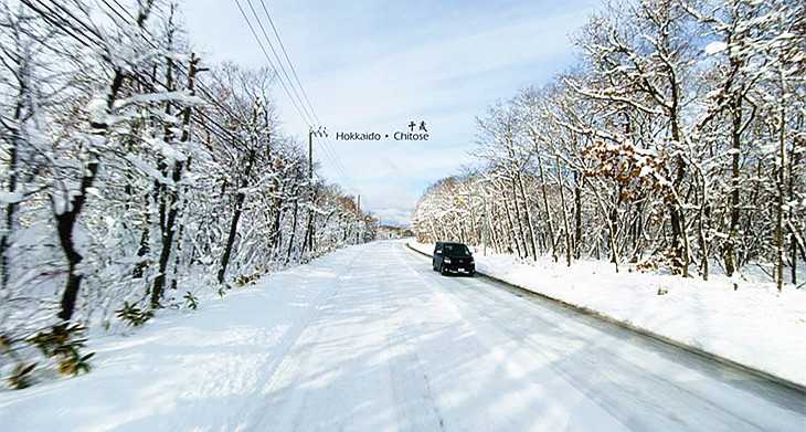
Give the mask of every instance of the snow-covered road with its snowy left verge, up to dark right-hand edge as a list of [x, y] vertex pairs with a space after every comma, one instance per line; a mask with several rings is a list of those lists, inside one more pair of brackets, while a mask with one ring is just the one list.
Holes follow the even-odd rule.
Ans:
[[0, 393], [0, 431], [803, 431], [804, 394], [401, 242], [337, 251], [95, 337], [95, 370]]

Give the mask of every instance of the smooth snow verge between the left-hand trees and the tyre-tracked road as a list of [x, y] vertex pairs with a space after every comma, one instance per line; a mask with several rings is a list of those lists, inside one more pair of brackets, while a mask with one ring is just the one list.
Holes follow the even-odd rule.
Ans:
[[91, 373], [0, 392], [0, 431], [252, 430], [267, 377], [354, 255], [278, 272], [197, 313], [158, 313], [129, 336], [93, 336]]

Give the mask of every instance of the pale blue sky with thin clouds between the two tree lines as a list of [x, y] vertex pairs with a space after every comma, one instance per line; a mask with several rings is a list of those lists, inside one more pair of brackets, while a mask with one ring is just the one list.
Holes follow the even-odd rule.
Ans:
[[[259, 0], [238, 0], [251, 14]], [[370, 1], [264, 0], [316, 114], [349, 178], [315, 144], [324, 177], [361, 193], [383, 223], [407, 223], [434, 181], [474, 160], [474, 118], [518, 88], [544, 84], [574, 62], [569, 34], [595, 0]], [[267, 61], [235, 0], [184, 4], [190, 39], [208, 62]], [[259, 32], [259, 30], [257, 30]], [[279, 50], [279, 46], [277, 46]], [[271, 54], [271, 52], [269, 52]], [[290, 71], [289, 71], [290, 73]], [[275, 86], [285, 131], [307, 141], [307, 126]], [[337, 131], [406, 130], [426, 122], [427, 141], [344, 141]]]

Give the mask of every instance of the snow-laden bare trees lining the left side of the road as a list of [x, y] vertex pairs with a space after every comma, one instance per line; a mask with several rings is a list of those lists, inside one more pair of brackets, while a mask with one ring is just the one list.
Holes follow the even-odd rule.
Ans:
[[274, 72], [205, 63], [173, 2], [0, 4], [0, 350], [18, 376], [29, 345], [76, 372], [84, 327], [374, 236], [279, 127]]

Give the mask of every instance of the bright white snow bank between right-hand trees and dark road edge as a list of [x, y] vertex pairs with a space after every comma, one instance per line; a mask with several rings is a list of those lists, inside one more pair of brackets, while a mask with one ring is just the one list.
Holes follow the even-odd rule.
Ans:
[[[433, 244], [410, 242], [431, 254]], [[549, 297], [595, 310], [685, 345], [806, 386], [806, 292], [773, 283], [711, 281], [628, 272], [613, 264], [475, 253], [476, 270]]]

